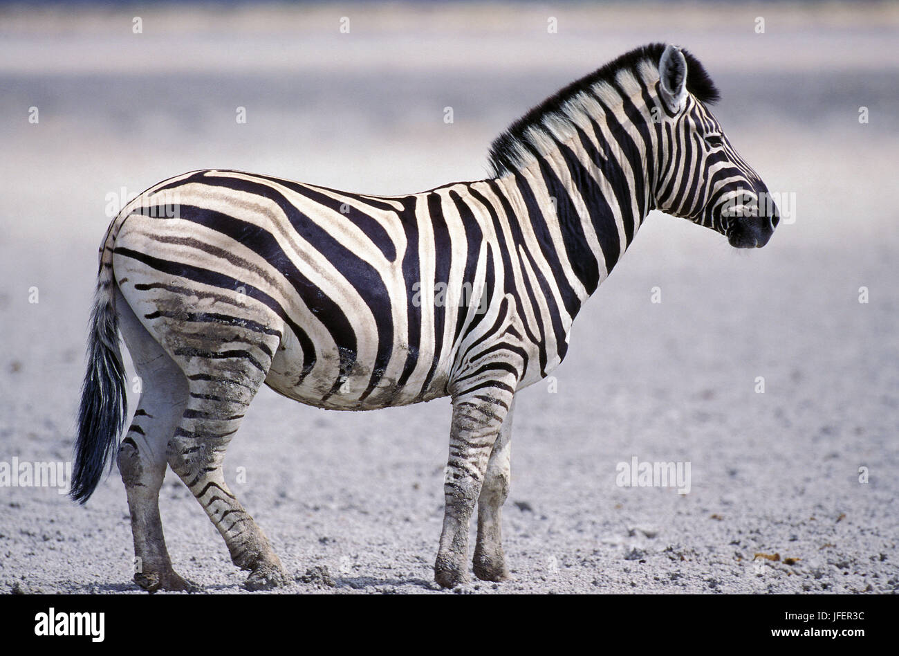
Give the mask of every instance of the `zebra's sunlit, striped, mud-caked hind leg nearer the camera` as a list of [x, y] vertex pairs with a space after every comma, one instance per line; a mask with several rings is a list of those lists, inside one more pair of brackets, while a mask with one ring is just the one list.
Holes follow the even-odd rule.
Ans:
[[268, 341], [175, 351], [184, 358], [189, 400], [169, 443], [169, 464], [225, 539], [232, 562], [251, 572], [246, 589], [271, 589], [288, 581], [268, 538], [228, 489], [222, 469], [225, 449], [268, 371], [263, 362], [271, 362], [278, 346], [277, 339]]

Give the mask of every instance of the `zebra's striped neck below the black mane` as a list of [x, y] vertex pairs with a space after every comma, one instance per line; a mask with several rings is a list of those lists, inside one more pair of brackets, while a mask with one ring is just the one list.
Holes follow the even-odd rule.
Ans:
[[514, 165], [495, 182], [532, 227], [540, 254], [556, 260], [550, 266], [565, 275], [578, 308], [653, 208], [652, 106], [649, 85], [628, 73], [592, 85], [507, 144]]

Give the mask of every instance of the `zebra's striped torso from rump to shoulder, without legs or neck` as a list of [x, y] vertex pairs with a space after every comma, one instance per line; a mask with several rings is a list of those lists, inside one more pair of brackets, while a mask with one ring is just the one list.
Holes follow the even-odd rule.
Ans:
[[[209, 353], [209, 335], [235, 330], [278, 337], [273, 352], [241, 340], [227, 351], [309, 405], [455, 395], [503, 352], [523, 365], [520, 389], [562, 361], [585, 284], [599, 283], [574, 272], [554, 217], [538, 209], [548, 195], [532, 175], [374, 197], [200, 171], [125, 208], [113, 266], [151, 333], [196, 323], [199, 343], [175, 350]], [[622, 251], [626, 232], [609, 228]], [[614, 261], [602, 264], [604, 277]]]

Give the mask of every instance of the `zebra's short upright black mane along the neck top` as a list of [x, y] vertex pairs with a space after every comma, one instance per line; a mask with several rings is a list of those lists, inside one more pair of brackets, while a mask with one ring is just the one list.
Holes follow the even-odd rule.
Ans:
[[[613, 82], [620, 70], [630, 69], [636, 75], [636, 67], [645, 60], [657, 67], [665, 47], [664, 43], [650, 43], [635, 48], [560, 89], [518, 121], [513, 122], [503, 134], [494, 139], [490, 146], [490, 153], [487, 157], [492, 174], [503, 175], [515, 167], [514, 146], [524, 140], [524, 133], [528, 128], [542, 124], [544, 119], [550, 115], [558, 115], [569, 99], [587, 91], [597, 82]], [[703, 103], [717, 103], [721, 94], [718, 93], [715, 83], [712, 82], [705, 67], [689, 51], [681, 49], [681, 52], [687, 60], [687, 90]]]

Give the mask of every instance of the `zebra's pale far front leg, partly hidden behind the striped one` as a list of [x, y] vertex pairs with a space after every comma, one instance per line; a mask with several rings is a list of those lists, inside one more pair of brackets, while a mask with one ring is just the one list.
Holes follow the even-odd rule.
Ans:
[[494, 442], [481, 496], [477, 499], [477, 541], [474, 569], [480, 580], [501, 581], [509, 578], [503, 553], [502, 511], [509, 496], [512, 455], [512, 407], [503, 419], [499, 436]]

